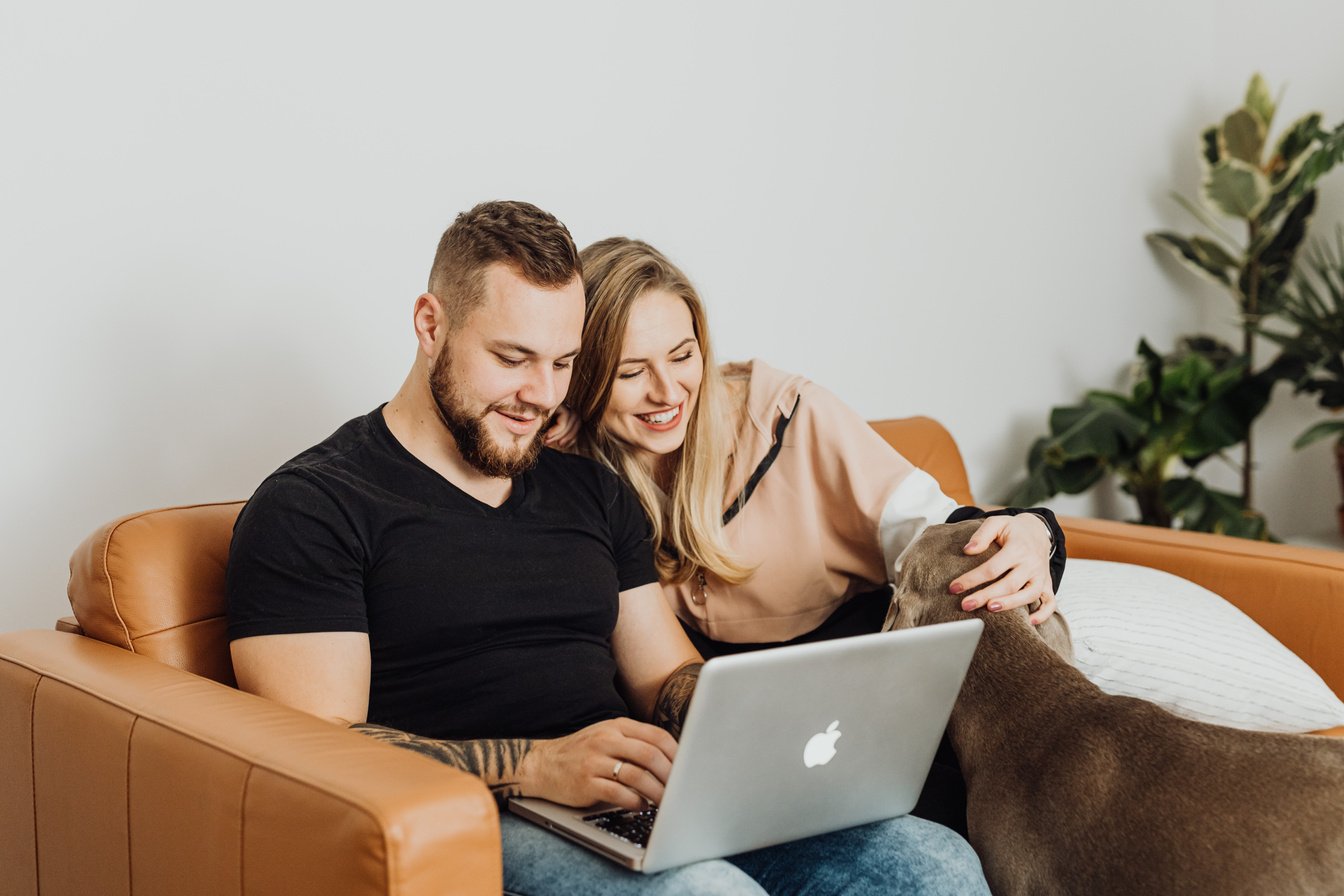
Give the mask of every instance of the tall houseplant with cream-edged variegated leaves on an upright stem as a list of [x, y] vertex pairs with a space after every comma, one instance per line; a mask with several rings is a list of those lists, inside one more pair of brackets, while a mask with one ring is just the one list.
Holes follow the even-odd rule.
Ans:
[[[1321, 113], [1302, 116], [1269, 142], [1278, 103], [1265, 79], [1254, 75], [1242, 105], [1200, 133], [1200, 200], [1175, 195], [1207, 235], [1149, 234], [1198, 274], [1224, 287], [1236, 305], [1242, 329], [1242, 375], [1255, 376], [1255, 333], [1285, 302], [1298, 247], [1316, 210], [1316, 183], [1344, 161], [1344, 125], [1321, 128]], [[1235, 219], [1245, 236], [1227, 231], [1219, 216]], [[1251, 501], [1253, 441], [1247, 427], [1242, 461], [1242, 498]]]

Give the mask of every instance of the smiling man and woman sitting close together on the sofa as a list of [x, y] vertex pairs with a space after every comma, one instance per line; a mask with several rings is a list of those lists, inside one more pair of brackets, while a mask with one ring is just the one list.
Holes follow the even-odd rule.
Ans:
[[[661, 798], [704, 658], [878, 631], [929, 524], [985, 517], [966, 552], [1001, 545], [952, 584], [993, 582], [966, 610], [1054, 613], [1048, 510], [958, 508], [829, 392], [761, 361], [718, 367], [699, 296], [652, 246], [579, 253], [542, 210], [482, 203], [439, 240], [413, 321], [396, 395], [281, 466], [238, 519], [245, 690], [501, 801], [636, 809]], [[952, 829], [954, 783], [914, 815], [648, 876], [501, 813], [504, 884], [986, 892]]]

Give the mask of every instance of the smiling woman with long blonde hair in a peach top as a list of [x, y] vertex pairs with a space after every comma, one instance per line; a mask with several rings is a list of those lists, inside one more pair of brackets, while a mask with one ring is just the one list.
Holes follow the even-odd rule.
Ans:
[[[965, 610], [1055, 611], [1063, 532], [1044, 509], [958, 508], [831, 392], [762, 361], [714, 363], [704, 308], [661, 253], [582, 253], [583, 351], [547, 441], [616, 470], [653, 528], [664, 594], [706, 658], [878, 631], [900, 553], [929, 524], [986, 517], [1000, 551], [952, 583]], [[997, 580], [996, 580], [997, 579]], [[914, 814], [965, 834], [943, 743]]]

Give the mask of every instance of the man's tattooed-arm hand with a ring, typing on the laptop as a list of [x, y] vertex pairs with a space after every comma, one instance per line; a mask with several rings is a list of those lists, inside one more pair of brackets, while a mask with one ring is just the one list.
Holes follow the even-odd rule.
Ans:
[[676, 740], [656, 725], [609, 719], [567, 737], [538, 740], [519, 764], [519, 790], [566, 806], [644, 809], [663, 799]]

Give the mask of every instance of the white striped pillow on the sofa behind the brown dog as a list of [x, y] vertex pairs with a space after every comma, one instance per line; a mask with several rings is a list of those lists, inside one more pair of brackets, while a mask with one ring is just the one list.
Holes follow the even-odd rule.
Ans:
[[1344, 703], [1245, 613], [1161, 570], [1070, 560], [1059, 588], [1075, 665], [1106, 693], [1257, 731], [1344, 725]]

